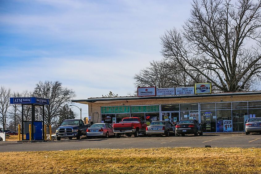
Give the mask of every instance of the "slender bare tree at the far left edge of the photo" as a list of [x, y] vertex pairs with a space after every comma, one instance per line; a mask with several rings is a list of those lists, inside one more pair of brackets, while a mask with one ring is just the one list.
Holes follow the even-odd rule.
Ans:
[[6, 89], [5, 87], [1, 86], [0, 88], [0, 114], [1, 119], [0, 123], [3, 125], [3, 129], [6, 129], [6, 112], [7, 109], [10, 107], [10, 97], [11, 97], [11, 89]]

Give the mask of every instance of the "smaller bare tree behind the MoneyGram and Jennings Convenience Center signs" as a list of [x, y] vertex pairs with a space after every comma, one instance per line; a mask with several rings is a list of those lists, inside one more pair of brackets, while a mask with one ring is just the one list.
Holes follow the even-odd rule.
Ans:
[[[187, 65], [183, 64], [182, 66], [186, 67]], [[141, 70], [139, 74], [135, 74], [134, 84], [137, 87], [155, 86], [164, 88], [193, 86], [195, 82], [204, 81], [199, 73], [194, 74], [194, 77], [195, 79], [192, 79], [175, 61], [152, 61], [149, 67]]]

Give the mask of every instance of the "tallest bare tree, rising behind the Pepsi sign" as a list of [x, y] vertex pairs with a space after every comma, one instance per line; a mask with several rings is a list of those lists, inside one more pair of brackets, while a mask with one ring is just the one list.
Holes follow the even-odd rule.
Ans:
[[162, 55], [219, 91], [255, 90], [261, 75], [260, 8], [260, 0], [193, 0], [183, 29], [161, 37]]

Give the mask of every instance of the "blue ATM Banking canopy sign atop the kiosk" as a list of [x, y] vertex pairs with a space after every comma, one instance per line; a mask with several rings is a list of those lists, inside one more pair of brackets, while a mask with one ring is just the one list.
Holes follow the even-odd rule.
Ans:
[[49, 99], [38, 97], [11, 97], [11, 104], [25, 104], [25, 105], [49, 105]]

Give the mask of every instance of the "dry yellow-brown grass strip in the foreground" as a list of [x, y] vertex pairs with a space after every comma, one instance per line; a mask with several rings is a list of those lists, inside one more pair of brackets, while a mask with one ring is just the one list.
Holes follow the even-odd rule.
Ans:
[[260, 173], [261, 149], [1, 152], [0, 173]]

